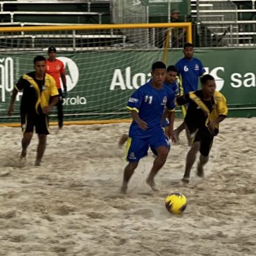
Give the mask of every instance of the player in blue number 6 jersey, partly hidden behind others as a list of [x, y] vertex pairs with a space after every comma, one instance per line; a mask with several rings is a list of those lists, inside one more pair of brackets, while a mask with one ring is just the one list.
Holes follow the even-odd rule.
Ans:
[[[193, 57], [193, 44], [184, 44], [183, 53], [184, 57], [175, 64], [179, 75], [181, 95], [190, 93], [190, 91], [197, 91], [199, 77], [205, 73], [205, 68], [203, 68], [201, 61]], [[185, 116], [186, 106], [182, 106], [182, 111], [183, 116]], [[181, 131], [183, 131], [183, 129], [185, 129], [184, 122], [177, 129], [175, 129], [174, 134], [177, 141], [179, 141], [179, 134]]]

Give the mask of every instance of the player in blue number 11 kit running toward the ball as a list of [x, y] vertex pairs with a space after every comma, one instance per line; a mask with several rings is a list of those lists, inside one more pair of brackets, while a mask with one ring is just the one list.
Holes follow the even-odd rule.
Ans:
[[156, 159], [147, 178], [147, 184], [156, 190], [154, 176], [165, 164], [170, 149], [169, 138], [161, 127], [163, 110], [166, 107], [170, 120], [168, 135], [174, 140], [174, 93], [164, 84], [166, 66], [163, 62], [152, 65], [152, 80], [140, 86], [129, 98], [127, 109], [131, 111], [133, 121], [129, 129], [127, 140], [128, 165], [124, 170], [121, 192], [127, 192], [127, 185], [140, 158], [147, 156], [149, 147], [156, 153]]

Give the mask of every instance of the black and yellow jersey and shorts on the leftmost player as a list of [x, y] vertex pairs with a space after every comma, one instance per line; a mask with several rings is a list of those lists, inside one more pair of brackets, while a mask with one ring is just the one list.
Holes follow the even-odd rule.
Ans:
[[48, 116], [42, 109], [49, 105], [51, 97], [58, 95], [55, 80], [45, 74], [44, 80], [35, 78], [35, 71], [22, 75], [15, 88], [23, 91], [21, 98], [21, 128], [24, 133], [49, 134]]

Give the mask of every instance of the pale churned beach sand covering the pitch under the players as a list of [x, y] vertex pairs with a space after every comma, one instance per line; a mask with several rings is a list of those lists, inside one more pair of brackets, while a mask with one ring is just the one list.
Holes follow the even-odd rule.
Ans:
[[[126, 195], [117, 142], [129, 124], [52, 127], [40, 167], [37, 136], [24, 164], [21, 129], [0, 127], [0, 255], [256, 255], [255, 127], [256, 118], [224, 120], [205, 178], [193, 168], [188, 185], [183, 133], [156, 176], [161, 191], [145, 183], [150, 153]], [[165, 209], [171, 192], [187, 196], [180, 216]]]

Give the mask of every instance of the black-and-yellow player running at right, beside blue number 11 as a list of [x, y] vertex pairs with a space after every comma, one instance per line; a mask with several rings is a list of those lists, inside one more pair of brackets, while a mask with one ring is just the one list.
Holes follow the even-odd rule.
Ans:
[[201, 77], [202, 89], [192, 91], [176, 99], [179, 105], [188, 104], [185, 125], [190, 134], [190, 151], [188, 152], [183, 183], [190, 182], [190, 170], [200, 152], [197, 175], [203, 177], [203, 165], [208, 162], [213, 138], [219, 133], [219, 123], [228, 115], [226, 98], [215, 91], [216, 84], [212, 75]]

